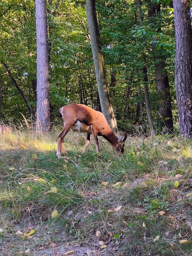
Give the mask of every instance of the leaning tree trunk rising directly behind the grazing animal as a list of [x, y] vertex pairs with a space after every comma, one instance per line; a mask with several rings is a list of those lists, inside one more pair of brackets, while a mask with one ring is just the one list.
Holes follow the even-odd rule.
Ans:
[[103, 52], [100, 43], [98, 22], [96, 18], [95, 0], [86, 0], [86, 10], [100, 106], [109, 126], [112, 128], [113, 131], [116, 132], [117, 124], [109, 96], [109, 88], [107, 85], [107, 76], [105, 71]]

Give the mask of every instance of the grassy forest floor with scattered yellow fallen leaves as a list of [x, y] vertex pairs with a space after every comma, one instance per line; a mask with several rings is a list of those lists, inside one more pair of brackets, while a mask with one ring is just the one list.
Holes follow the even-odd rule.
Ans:
[[128, 137], [118, 157], [100, 138], [82, 155], [69, 132], [57, 159], [59, 130], [0, 134], [2, 255], [192, 255], [192, 141]]

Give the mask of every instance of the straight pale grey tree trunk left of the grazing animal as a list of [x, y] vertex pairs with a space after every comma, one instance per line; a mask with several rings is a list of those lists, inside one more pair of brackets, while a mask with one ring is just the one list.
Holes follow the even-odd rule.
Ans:
[[35, 0], [37, 38], [37, 130], [50, 127], [49, 51], [46, 0]]

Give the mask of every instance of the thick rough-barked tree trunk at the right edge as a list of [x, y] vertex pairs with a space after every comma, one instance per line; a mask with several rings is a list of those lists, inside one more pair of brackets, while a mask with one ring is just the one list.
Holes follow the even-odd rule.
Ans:
[[190, 1], [174, 0], [175, 85], [179, 133], [192, 138], [192, 28]]

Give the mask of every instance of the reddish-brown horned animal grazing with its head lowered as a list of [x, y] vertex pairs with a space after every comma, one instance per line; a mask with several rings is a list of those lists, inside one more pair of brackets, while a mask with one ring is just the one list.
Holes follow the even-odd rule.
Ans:
[[65, 153], [63, 139], [70, 129], [76, 132], [87, 132], [85, 147], [82, 153], [86, 153], [91, 134], [94, 137], [97, 152], [100, 152], [97, 136], [103, 136], [109, 141], [116, 153], [123, 153], [127, 133], [123, 133], [123, 138], [115, 134], [101, 112], [83, 104], [70, 104], [60, 108], [59, 114], [64, 121], [64, 128], [58, 135], [58, 158], [61, 157], [62, 153]]

